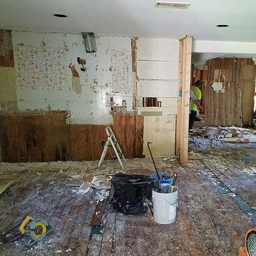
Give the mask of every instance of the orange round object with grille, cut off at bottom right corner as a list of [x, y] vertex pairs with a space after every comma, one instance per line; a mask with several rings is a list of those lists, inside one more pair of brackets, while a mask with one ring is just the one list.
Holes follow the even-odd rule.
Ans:
[[239, 256], [256, 255], [256, 228], [251, 228], [245, 236], [245, 246], [239, 248]]

